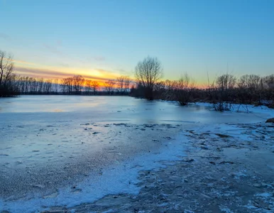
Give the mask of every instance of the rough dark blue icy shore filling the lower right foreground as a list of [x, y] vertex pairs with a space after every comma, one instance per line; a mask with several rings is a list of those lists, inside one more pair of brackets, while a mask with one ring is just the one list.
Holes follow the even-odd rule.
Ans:
[[138, 194], [110, 194], [51, 211], [273, 212], [273, 124], [203, 126], [177, 140], [186, 155], [139, 171]]

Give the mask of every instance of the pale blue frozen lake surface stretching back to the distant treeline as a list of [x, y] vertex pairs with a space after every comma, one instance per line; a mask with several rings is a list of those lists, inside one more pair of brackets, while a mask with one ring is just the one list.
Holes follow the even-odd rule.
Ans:
[[132, 97], [0, 99], [0, 196], [50, 192], [141, 153], [157, 153], [185, 129], [265, 121], [267, 114], [209, 111]]

